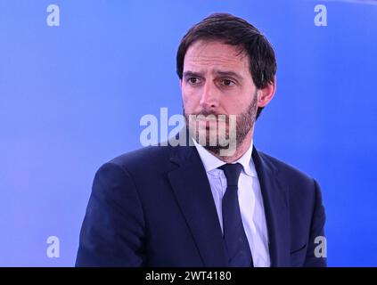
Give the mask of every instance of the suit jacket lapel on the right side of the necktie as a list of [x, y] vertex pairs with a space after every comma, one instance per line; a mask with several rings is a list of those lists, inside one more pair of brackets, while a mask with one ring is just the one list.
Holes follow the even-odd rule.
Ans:
[[263, 203], [269, 238], [271, 266], [290, 266], [290, 212], [288, 185], [281, 183], [277, 169], [266, 156], [252, 151]]

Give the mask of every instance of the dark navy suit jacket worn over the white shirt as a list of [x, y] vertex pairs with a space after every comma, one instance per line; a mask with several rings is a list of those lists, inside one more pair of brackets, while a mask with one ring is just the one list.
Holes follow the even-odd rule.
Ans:
[[[255, 148], [272, 266], [324, 266], [316, 181]], [[77, 266], [227, 266], [209, 180], [194, 146], [152, 146], [96, 173]]]

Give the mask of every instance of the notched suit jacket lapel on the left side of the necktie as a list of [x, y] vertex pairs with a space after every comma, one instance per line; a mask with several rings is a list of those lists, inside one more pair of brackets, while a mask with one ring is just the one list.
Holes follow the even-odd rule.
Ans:
[[194, 146], [174, 147], [168, 173], [204, 266], [226, 266], [225, 245], [209, 180]]

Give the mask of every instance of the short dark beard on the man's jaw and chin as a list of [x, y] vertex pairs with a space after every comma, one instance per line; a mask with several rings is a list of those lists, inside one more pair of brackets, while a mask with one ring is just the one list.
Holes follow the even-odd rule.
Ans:
[[[257, 118], [257, 110], [258, 110], [257, 104], [258, 104], [258, 95], [257, 95], [257, 91], [256, 91], [255, 94], [253, 95], [252, 101], [250, 102], [250, 105], [248, 106], [248, 108], [245, 111], [243, 111], [241, 114], [237, 115], [237, 118], [236, 118], [236, 135], [235, 135], [236, 150], [239, 149], [239, 147], [244, 142], [247, 134], [249, 134], [251, 128], [254, 126], [255, 120]], [[203, 115], [203, 116], [214, 115], [214, 116], [217, 116], [217, 115], [220, 115], [220, 114], [214, 114], [212, 112], [208, 112], [208, 111], [204, 111], [204, 110], [201, 111], [198, 114], [187, 114], [184, 110], [184, 118], [185, 118], [185, 121], [186, 121], [186, 128], [190, 127], [190, 125], [189, 125], [189, 115], [196, 115], [196, 116], [199, 116], [199, 115]], [[229, 122], [228, 116], [226, 116], [226, 121]], [[190, 132], [190, 134], [192, 134], [192, 133]], [[198, 140], [196, 138], [200, 137], [199, 130], [197, 129], [196, 134], [192, 134], [192, 135], [195, 136], [194, 140], [196, 142], [198, 142]], [[228, 130], [226, 130], [226, 139], [229, 139]], [[207, 132], [207, 134], [206, 134], [206, 143], [205, 143], [205, 145], [202, 145], [202, 146], [207, 151], [210, 151], [217, 156], [220, 155], [221, 150], [226, 150], [229, 147], [228, 145], [225, 145], [225, 146], [220, 145], [218, 143], [218, 138], [217, 138], [217, 144], [216, 145], [210, 145], [210, 143], [209, 143], [209, 132]]]

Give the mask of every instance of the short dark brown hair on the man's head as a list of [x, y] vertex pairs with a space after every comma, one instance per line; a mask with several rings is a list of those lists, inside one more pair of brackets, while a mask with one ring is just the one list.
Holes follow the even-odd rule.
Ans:
[[[190, 45], [199, 39], [220, 40], [236, 45], [249, 55], [250, 74], [258, 89], [273, 84], [276, 74], [275, 52], [272, 45], [246, 20], [229, 13], [214, 13], [195, 24], [184, 35], [176, 53], [176, 73], [180, 79], [184, 72], [184, 55]], [[263, 107], [259, 107], [257, 118]]]

